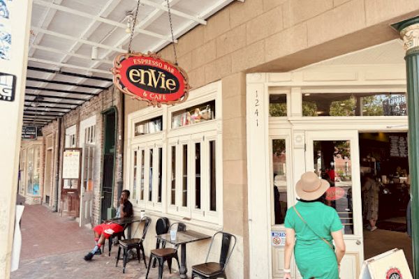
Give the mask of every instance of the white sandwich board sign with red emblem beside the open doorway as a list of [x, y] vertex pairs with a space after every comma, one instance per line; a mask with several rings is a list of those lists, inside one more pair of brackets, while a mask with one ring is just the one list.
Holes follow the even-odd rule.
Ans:
[[366, 259], [359, 279], [413, 279], [403, 250], [393, 249]]

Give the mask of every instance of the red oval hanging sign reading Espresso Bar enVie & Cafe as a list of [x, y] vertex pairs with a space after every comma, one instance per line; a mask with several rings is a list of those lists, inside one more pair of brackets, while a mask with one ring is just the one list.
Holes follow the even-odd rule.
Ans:
[[114, 59], [113, 82], [117, 89], [149, 105], [174, 105], [189, 96], [186, 72], [159, 54], [125, 53]]

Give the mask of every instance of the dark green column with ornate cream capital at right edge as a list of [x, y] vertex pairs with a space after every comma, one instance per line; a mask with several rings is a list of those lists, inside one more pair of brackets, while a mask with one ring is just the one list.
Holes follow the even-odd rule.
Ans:
[[[419, 17], [394, 24], [406, 50], [407, 110], [409, 116], [409, 173], [411, 179], [411, 220], [413, 277], [419, 276]], [[416, 274], [416, 276], [415, 276]]]

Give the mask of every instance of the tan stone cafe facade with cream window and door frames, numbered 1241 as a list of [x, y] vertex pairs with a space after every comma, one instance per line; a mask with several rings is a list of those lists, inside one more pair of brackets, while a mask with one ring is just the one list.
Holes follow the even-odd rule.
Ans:
[[[129, 156], [124, 160], [124, 179], [135, 192], [135, 212], [145, 210], [154, 221], [159, 216], [168, 216], [171, 222], [182, 220], [188, 228], [207, 234], [218, 229], [233, 233], [239, 242], [228, 276], [281, 278], [284, 248], [272, 245], [272, 236], [284, 230], [281, 214], [296, 202], [293, 186], [308, 170], [321, 176], [332, 168], [333, 183], [343, 188], [346, 198], [348, 216], [342, 220], [349, 220], [345, 221], [348, 253], [341, 278], [356, 278], [365, 254], [360, 188], [366, 166], [359, 143], [372, 137], [365, 133], [384, 133], [388, 138], [393, 132], [399, 138], [406, 133], [403, 47], [396, 41], [395, 53], [385, 45], [399, 38], [390, 24], [415, 15], [418, 9], [419, 3], [409, 0], [237, 1], [213, 15], [207, 25], [179, 38], [179, 66], [189, 74], [193, 87], [189, 100], [163, 109], [125, 100], [124, 146]], [[372, 63], [367, 56], [358, 57], [361, 60], [356, 63], [326, 61], [381, 44], [382, 56], [374, 56]], [[171, 47], [161, 55], [174, 60]], [[321, 61], [323, 66], [303, 68]], [[211, 93], [205, 92], [214, 90], [214, 97], [206, 99]], [[390, 103], [381, 105], [379, 112], [363, 111], [378, 99], [380, 104]], [[200, 105], [207, 107], [212, 100], [214, 119], [193, 122], [195, 109], [200, 112]], [[398, 102], [397, 108], [393, 101]], [[346, 102], [351, 112], [339, 102]], [[145, 133], [146, 124], [154, 133]], [[221, 175], [215, 189], [216, 204], [222, 210], [216, 218], [196, 207], [197, 147], [204, 146], [200, 158], [205, 163], [210, 160], [205, 156], [212, 154], [207, 136], [201, 137], [204, 126], [214, 130], [210, 139], [216, 140], [216, 176]], [[345, 152], [335, 154], [335, 147]], [[150, 171], [151, 166], [159, 171]], [[205, 169], [202, 177], [207, 179], [200, 184], [207, 193], [211, 193], [210, 173], [211, 168]], [[272, 189], [277, 189], [277, 202]], [[200, 193], [200, 197], [211, 209], [211, 195]], [[146, 243], [148, 248], [154, 246], [153, 234]], [[203, 262], [206, 248], [206, 243], [188, 248], [189, 269]], [[299, 278], [295, 263], [292, 269], [293, 278]]]

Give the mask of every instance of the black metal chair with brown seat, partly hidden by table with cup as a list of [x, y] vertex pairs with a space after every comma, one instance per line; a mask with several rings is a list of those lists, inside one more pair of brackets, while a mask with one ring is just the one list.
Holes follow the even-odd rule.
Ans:
[[[186, 225], [184, 223], [173, 223], [172, 225], [170, 225], [170, 229], [174, 229], [174, 227], [177, 227], [176, 229], [177, 232], [184, 232], [184, 230], [186, 229]], [[163, 264], [165, 261], [168, 262], [170, 273], [172, 273], [172, 259], [173, 258], [176, 259], [177, 267], [180, 270], [179, 257], [177, 256], [178, 246], [175, 246], [174, 248], [166, 248], [166, 241], [162, 241], [162, 242], [163, 242], [163, 247], [165, 248], [154, 249], [154, 250], [151, 250], [150, 252], [149, 266], [147, 268], [147, 275], [145, 276], [145, 279], [148, 278], [152, 259], [157, 259], [157, 261], [159, 261], [159, 279], [163, 278]]]

